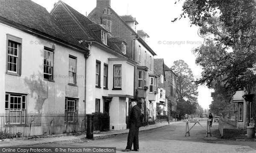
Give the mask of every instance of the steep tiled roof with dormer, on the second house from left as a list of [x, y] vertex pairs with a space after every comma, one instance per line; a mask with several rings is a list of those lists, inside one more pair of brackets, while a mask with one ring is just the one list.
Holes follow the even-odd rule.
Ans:
[[[101, 40], [101, 35], [97, 35], [95, 33], [95, 30], [105, 29], [61, 0], [52, 9], [51, 15], [58, 21], [58, 23], [61, 24], [61, 26], [66, 31], [70, 32], [70, 34], [72, 34], [77, 40], [96, 41], [102, 45], [105, 45]], [[107, 37], [109, 37], [109, 35]], [[107, 41], [107, 45], [105, 45], [106, 47], [122, 54], [121, 49], [118, 48], [115, 43], [109, 40], [109, 38], [107, 38]]]

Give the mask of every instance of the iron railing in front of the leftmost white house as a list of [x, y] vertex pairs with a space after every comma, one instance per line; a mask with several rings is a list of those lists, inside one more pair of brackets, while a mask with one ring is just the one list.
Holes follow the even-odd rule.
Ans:
[[0, 133], [12, 137], [41, 136], [86, 131], [86, 115], [64, 113], [0, 114]]

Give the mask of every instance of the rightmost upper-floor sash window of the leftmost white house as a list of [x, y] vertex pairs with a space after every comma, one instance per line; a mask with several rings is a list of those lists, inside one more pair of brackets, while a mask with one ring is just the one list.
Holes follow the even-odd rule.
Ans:
[[76, 58], [69, 56], [69, 83], [76, 84]]

